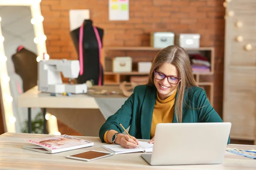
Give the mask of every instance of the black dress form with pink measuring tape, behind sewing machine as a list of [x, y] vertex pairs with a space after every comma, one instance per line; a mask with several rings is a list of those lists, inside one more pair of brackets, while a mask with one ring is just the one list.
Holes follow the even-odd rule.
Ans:
[[[83, 53], [83, 74], [76, 79], [76, 82], [81, 84], [87, 80], [93, 80], [94, 85], [99, 85], [99, 70], [101, 67], [101, 85], [103, 84], [103, 68], [99, 61], [99, 45], [96, 38], [96, 33], [93, 29], [91, 20], [84, 20], [82, 37], [82, 53]], [[99, 32], [100, 41], [102, 43], [104, 31], [101, 28], [96, 28]], [[79, 35], [80, 27], [70, 33], [73, 43], [79, 55]]]

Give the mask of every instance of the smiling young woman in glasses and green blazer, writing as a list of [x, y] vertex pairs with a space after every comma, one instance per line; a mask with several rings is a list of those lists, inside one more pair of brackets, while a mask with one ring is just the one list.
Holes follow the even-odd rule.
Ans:
[[[147, 85], [134, 88], [124, 105], [99, 130], [102, 142], [120, 144], [125, 148], [138, 146], [137, 139], [151, 139], [157, 123], [222, 122], [196, 85], [189, 56], [176, 45], [163, 48], [152, 62]], [[119, 125], [129, 129], [128, 135]], [[230, 139], [228, 140], [230, 143]]]

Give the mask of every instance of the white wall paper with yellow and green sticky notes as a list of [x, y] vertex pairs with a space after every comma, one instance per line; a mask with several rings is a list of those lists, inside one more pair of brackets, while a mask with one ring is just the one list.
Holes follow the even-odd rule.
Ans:
[[129, 20], [129, 0], [109, 0], [108, 11], [111, 21]]

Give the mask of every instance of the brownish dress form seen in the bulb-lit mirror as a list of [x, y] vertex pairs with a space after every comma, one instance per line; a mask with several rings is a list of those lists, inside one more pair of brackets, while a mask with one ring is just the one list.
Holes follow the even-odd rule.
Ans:
[[37, 55], [20, 47], [17, 53], [12, 55], [15, 72], [23, 81], [23, 92], [37, 85], [38, 79], [38, 62]]

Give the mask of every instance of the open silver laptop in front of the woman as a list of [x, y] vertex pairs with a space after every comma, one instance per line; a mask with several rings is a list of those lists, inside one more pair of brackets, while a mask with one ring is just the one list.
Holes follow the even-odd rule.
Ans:
[[151, 165], [221, 164], [230, 122], [159, 123], [152, 153], [141, 154]]

